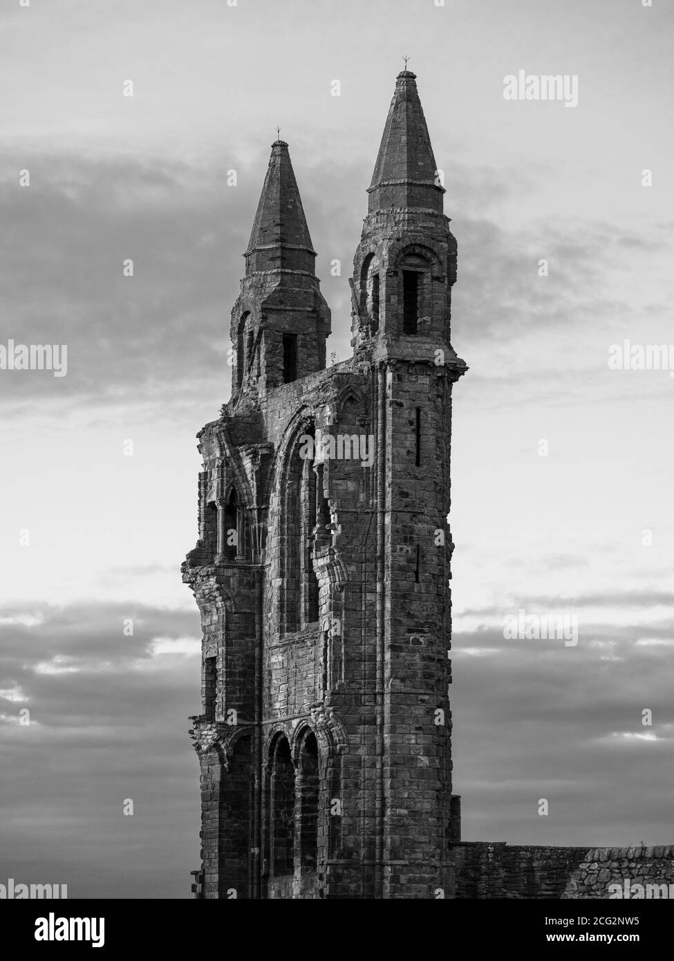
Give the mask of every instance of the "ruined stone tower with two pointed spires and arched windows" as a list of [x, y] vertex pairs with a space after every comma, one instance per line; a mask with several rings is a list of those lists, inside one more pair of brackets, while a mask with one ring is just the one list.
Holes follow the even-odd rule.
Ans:
[[287, 144], [232, 311], [233, 395], [199, 433], [204, 898], [453, 896], [450, 345], [457, 245], [409, 70], [354, 258], [349, 360]]

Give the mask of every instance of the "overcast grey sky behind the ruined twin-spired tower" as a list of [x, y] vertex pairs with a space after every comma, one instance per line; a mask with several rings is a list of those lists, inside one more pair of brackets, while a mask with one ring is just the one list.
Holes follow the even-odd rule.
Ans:
[[[673, 21], [665, 0], [4, 0], [0, 344], [68, 353], [62, 378], [0, 370], [0, 883], [189, 896], [194, 435], [230, 396], [277, 124], [328, 352], [349, 356], [350, 263], [403, 55], [444, 171], [470, 367], [452, 448], [463, 836], [671, 841], [674, 379], [608, 360], [626, 338], [674, 341]], [[505, 100], [520, 69], [576, 75], [578, 106]], [[578, 644], [505, 640], [519, 608], [576, 614]]]

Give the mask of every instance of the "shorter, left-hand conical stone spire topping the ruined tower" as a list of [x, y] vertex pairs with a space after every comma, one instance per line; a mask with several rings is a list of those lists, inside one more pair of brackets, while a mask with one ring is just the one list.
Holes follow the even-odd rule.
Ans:
[[246, 274], [259, 270], [314, 272], [315, 251], [285, 140], [271, 145], [269, 167], [245, 253]]

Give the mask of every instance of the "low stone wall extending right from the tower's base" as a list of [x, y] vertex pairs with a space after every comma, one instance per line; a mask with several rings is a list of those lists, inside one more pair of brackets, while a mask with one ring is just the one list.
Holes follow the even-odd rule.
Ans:
[[[457, 898], [674, 899], [674, 845], [546, 848], [463, 842], [452, 846], [452, 857]], [[620, 894], [610, 885], [620, 885]]]

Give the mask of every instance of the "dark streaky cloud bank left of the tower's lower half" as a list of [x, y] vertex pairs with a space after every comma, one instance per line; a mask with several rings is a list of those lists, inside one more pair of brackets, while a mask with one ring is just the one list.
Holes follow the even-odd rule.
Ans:
[[[137, 604], [0, 608], [0, 874], [70, 898], [187, 898], [199, 863], [193, 612]], [[134, 619], [134, 635], [123, 633]], [[8, 698], [9, 695], [9, 698]], [[19, 723], [28, 707], [30, 725]], [[134, 801], [134, 815], [122, 814]]]

